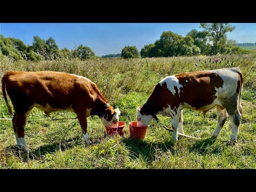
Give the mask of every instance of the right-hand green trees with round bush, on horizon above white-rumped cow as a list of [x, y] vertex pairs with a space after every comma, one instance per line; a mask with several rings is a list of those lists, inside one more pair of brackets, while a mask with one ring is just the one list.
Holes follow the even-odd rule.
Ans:
[[[237, 46], [236, 41], [227, 39], [227, 33], [235, 29], [235, 26], [229, 23], [200, 23], [200, 28], [203, 28], [203, 31], [191, 29], [185, 37], [172, 31], [164, 31], [154, 44], [145, 45], [140, 55], [146, 58], [249, 52]], [[125, 46], [122, 50], [122, 57], [138, 58], [137, 48]]]

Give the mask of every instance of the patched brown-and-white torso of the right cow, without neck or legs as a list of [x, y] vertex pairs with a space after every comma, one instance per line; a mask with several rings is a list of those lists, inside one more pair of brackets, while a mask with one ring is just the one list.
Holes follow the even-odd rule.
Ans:
[[[207, 110], [231, 97], [237, 98], [242, 86], [239, 73], [238, 68], [195, 71], [165, 77], [159, 85], [166, 90], [164, 102], [171, 108], [183, 105]], [[166, 95], [170, 95], [169, 99]]]

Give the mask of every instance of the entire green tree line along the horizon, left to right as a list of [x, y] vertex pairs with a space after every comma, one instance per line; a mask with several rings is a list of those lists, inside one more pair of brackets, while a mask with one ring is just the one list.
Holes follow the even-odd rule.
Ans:
[[[142, 47], [139, 52], [135, 46], [125, 46], [121, 54], [103, 55], [102, 58], [122, 57], [122, 58], [146, 58], [146, 57], [178, 57], [192, 55], [216, 55], [247, 53], [237, 46], [236, 41], [228, 40], [227, 33], [235, 29], [229, 23], [200, 23], [203, 31], [191, 29], [189, 33], [182, 37], [172, 31], [164, 31], [155, 43]], [[247, 44], [247, 43], [246, 43]], [[59, 46], [52, 37], [48, 39], [33, 37], [32, 45], [26, 45], [20, 39], [4, 37], [0, 35], [0, 56], [6, 55], [13, 60], [53, 60], [58, 58], [81, 60], [99, 58], [90, 47], [82, 44], [74, 44], [74, 49], [59, 49]]]

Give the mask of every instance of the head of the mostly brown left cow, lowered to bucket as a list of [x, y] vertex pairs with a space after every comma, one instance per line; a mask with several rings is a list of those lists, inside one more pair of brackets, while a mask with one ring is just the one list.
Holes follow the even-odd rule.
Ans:
[[119, 115], [119, 109], [108, 106], [104, 111], [103, 117], [101, 117], [101, 121], [105, 127], [118, 127]]

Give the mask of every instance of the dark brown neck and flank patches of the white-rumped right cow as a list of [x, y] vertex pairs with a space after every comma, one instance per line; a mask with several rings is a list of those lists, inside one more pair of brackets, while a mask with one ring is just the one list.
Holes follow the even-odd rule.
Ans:
[[[215, 87], [219, 88], [223, 85], [222, 78], [210, 71], [178, 74], [175, 77], [183, 86], [180, 87], [180, 95], [176, 86], [174, 86], [175, 94], [172, 94], [165, 82], [162, 86], [158, 83], [147, 101], [150, 110], [142, 106], [140, 110], [142, 115], [157, 114], [163, 108], [168, 108], [168, 105], [174, 110], [175, 114], [173, 115], [176, 115], [176, 108], [179, 107], [180, 103], [184, 102], [196, 109], [210, 105], [216, 98]], [[204, 115], [206, 112], [204, 111]]]

